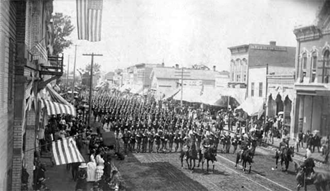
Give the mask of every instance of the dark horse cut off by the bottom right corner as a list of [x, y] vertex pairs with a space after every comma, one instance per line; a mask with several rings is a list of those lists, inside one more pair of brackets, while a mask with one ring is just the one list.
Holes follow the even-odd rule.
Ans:
[[315, 185], [316, 190], [326, 191], [326, 187], [328, 186], [330, 189], [330, 173], [326, 171], [315, 171], [312, 174], [312, 178], [310, 180], [306, 180], [305, 173], [302, 171], [300, 165], [293, 161], [295, 164], [295, 179], [298, 181], [297, 190], [300, 190], [300, 187], [304, 187], [305, 191], [307, 191], [307, 185]]

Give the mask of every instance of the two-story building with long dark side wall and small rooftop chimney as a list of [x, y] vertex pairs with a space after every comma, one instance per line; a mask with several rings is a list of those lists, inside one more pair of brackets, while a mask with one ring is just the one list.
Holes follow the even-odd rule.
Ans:
[[[243, 106], [250, 115], [262, 113], [267, 100], [267, 75], [292, 74], [295, 65], [295, 47], [269, 44], [243, 44], [229, 47], [231, 50], [231, 71], [229, 87], [246, 88]], [[256, 104], [257, 103], [257, 104]], [[243, 109], [244, 110], [244, 109]]]

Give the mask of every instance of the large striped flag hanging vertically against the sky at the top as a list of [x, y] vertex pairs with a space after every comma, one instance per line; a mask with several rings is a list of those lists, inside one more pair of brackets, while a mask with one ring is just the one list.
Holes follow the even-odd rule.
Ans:
[[78, 39], [101, 41], [103, 0], [77, 0]]

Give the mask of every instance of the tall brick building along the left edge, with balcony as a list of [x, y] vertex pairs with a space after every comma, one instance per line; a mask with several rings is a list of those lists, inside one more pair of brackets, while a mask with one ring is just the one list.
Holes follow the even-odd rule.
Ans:
[[51, 0], [4, 0], [0, 11], [0, 190], [20, 190], [23, 168], [32, 187], [38, 92], [61, 76], [63, 57], [52, 56]]

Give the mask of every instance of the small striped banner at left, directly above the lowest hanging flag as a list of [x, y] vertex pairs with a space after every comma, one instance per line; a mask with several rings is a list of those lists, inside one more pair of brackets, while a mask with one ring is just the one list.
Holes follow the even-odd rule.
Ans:
[[57, 115], [57, 114], [70, 114], [72, 116], [76, 116], [75, 113], [75, 107], [73, 105], [66, 105], [66, 104], [60, 104], [56, 103], [54, 101], [44, 100], [44, 106], [47, 108], [48, 115]]

